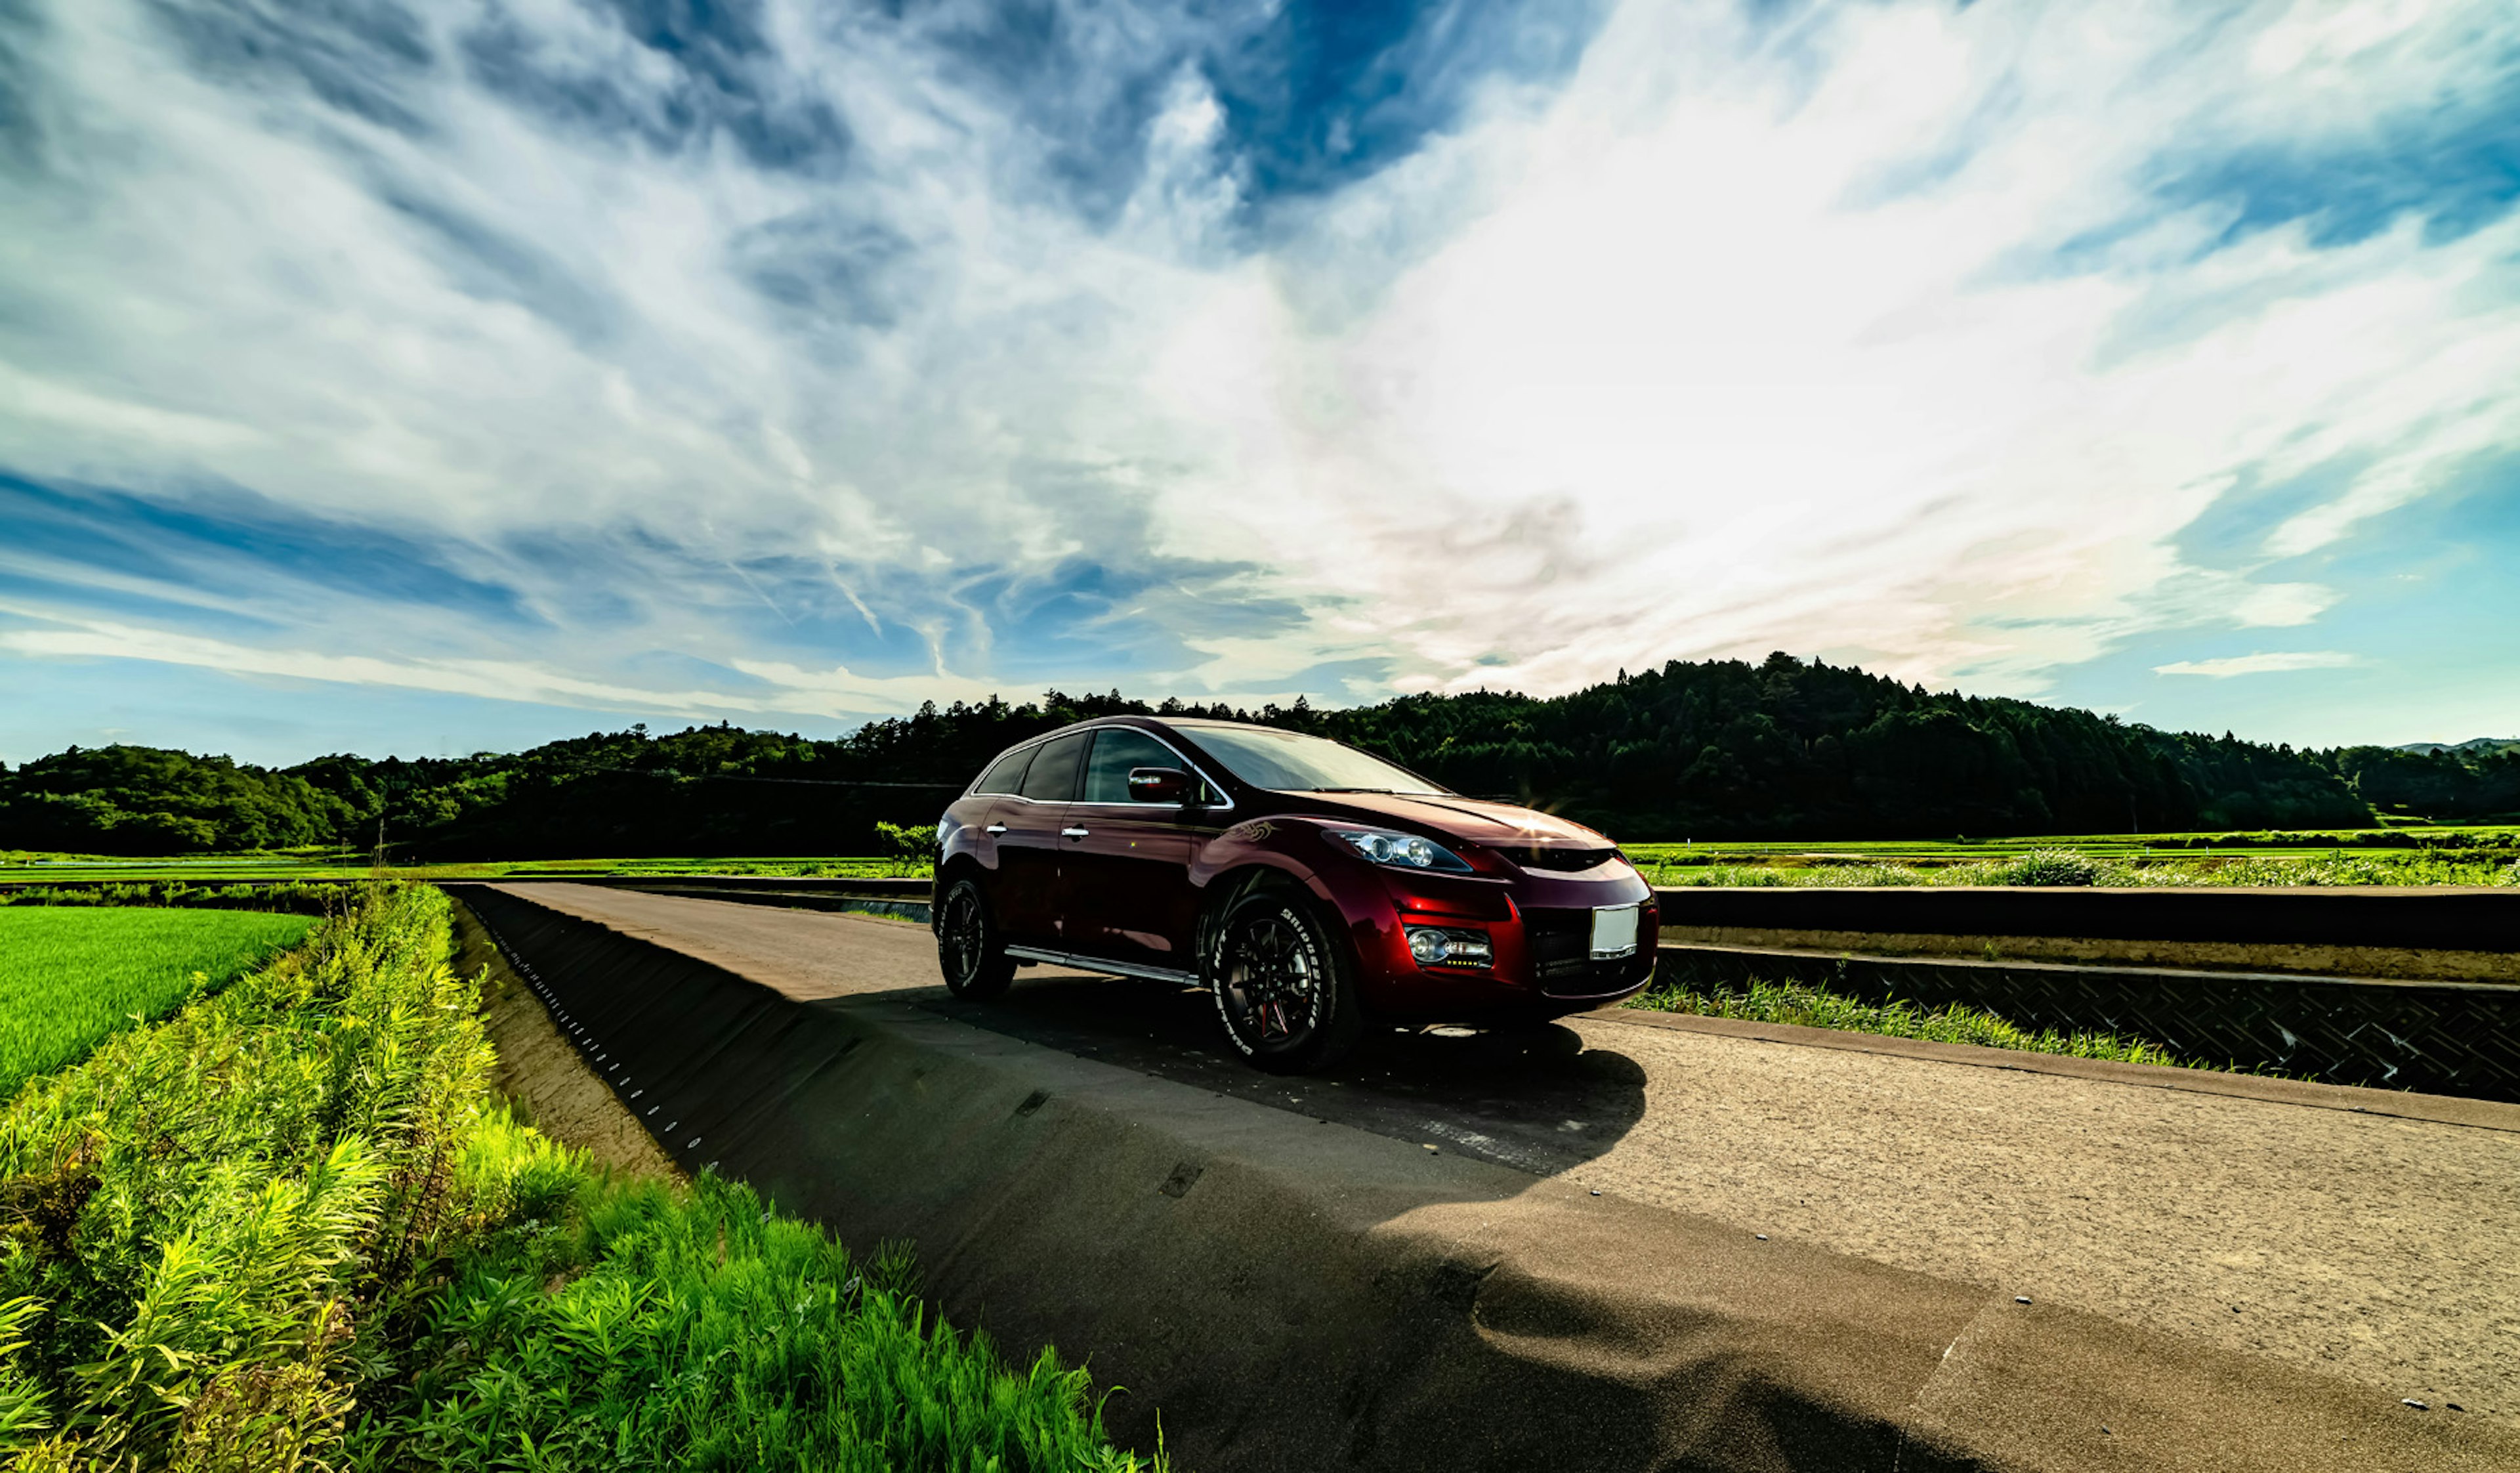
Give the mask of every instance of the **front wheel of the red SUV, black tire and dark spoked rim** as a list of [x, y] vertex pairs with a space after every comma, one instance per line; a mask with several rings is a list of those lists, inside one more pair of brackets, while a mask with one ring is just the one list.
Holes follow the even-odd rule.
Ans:
[[1250, 890], [1225, 908], [1207, 989], [1225, 1039], [1273, 1074], [1326, 1069], [1366, 1034], [1356, 966], [1300, 890]]

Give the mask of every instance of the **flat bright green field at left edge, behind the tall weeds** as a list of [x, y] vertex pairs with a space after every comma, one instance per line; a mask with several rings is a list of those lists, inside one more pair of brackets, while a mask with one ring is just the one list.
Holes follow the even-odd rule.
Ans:
[[305, 916], [244, 911], [0, 911], [0, 1100], [305, 938]]

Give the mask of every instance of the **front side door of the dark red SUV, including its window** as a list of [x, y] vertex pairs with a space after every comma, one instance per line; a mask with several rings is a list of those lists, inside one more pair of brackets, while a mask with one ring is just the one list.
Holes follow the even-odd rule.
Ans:
[[1134, 726], [1094, 731], [1058, 850], [1068, 951], [1197, 971], [1192, 931], [1200, 898], [1189, 885], [1189, 812], [1179, 802], [1134, 802], [1131, 767], [1177, 767], [1197, 784], [1197, 769], [1152, 734]]

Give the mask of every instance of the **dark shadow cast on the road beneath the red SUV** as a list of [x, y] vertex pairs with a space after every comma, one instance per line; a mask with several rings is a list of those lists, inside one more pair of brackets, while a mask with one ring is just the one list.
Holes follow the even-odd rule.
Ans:
[[1646, 1112], [1646, 1069], [1532, 1032], [1386, 1029], [1323, 1074], [1265, 1074], [1225, 1042], [1202, 989], [1119, 976], [1028, 976], [990, 1001], [922, 994], [955, 1022], [1235, 1100], [1557, 1175], [1610, 1150]]

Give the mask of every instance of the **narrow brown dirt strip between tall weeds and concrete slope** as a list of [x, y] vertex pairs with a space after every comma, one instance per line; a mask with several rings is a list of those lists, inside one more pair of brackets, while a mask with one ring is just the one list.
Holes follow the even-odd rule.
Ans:
[[499, 1052], [491, 1090], [519, 1120], [562, 1145], [585, 1150], [595, 1163], [633, 1175], [680, 1178], [683, 1168], [622, 1107], [612, 1087], [587, 1067], [534, 989], [517, 976], [489, 931], [464, 905], [454, 903], [456, 971], [481, 974], [481, 1024]]

